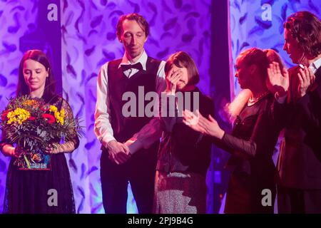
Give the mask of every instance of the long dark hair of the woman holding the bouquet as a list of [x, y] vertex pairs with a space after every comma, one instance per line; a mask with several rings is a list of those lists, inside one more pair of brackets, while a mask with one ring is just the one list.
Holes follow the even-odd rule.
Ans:
[[49, 59], [47, 58], [46, 54], [40, 50], [29, 50], [24, 53], [20, 64], [19, 64], [19, 79], [18, 79], [18, 88], [16, 90], [16, 95], [28, 95], [30, 93], [29, 86], [26, 84], [24, 80], [24, 62], [28, 59], [32, 59], [44, 65], [46, 71], [48, 71], [48, 77], [46, 78], [45, 88], [44, 88], [44, 95], [42, 98], [46, 102], [52, 100], [52, 98], [56, 97], [56, 83], [54, 79], [54, 75], [51, 70], [51, 64]]

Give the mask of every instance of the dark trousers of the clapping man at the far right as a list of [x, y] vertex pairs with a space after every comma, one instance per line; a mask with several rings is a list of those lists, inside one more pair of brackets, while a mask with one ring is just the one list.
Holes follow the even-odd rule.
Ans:
[[298, 190], [277, 185], [279, 214], [320, 214], [321, 190]]

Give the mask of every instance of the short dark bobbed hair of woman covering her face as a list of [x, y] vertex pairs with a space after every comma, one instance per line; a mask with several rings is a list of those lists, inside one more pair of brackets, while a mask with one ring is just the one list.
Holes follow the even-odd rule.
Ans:
[[200, 74], [198, 68], [193, 61], [193, 58], [184, 51], [173, 53], [165, 64], [165, 73], [170, 71], [170, 68], [175, 65], [180, 68], [187, 68], [188, 71], [188, 85], [196, 85], [200, 81]]

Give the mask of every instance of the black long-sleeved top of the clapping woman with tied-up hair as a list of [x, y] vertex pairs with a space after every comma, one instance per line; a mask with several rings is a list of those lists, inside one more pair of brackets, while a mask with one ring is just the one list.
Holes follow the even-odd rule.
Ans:
[[279, 128], [272, 118], [272, 94], [254, 105], [245, 105], [233, 125], [231, 134], [225, 133], [218, 146], [232, 153], [227, 167], [232, 172], [245, 172], [264, 182], [274, 178], [275, 165], [272, 155], [279, 135]]

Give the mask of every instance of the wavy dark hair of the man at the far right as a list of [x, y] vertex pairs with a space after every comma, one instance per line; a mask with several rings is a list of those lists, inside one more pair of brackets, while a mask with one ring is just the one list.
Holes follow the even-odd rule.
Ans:
[[309, 11], [290, 15], [283, 25], [297, 40], [304, 53], [317, 57], [321, 53], [321, 21]]

